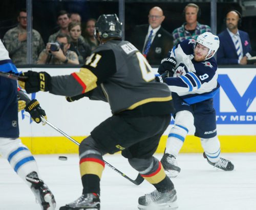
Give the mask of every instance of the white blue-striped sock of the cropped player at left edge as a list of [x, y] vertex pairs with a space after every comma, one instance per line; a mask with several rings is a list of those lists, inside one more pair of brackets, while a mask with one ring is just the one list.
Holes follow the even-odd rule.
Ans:
[[7, 138], [1, 138], [0, 148], [0, 153], [8, 160], [14, 171], [31, 187], [26, 176], [33, 171], [38, 173], [38, 167], [30, 150], [20, 139]]

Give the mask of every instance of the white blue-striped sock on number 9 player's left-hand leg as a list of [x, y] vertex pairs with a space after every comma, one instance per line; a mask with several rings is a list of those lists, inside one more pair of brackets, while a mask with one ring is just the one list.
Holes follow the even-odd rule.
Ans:
[[175, 124], [167, 138], [165, 153], [172, 154], [175, 157], [183, 146], [188, 129], [182, 125]]

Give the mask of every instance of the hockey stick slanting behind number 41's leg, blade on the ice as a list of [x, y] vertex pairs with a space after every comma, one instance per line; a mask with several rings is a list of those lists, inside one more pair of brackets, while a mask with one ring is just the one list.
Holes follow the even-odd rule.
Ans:
[[[71, 138], [69, 135], [67, 135], [66, 133], [62, 132], [62, 130], [60, 130], [59, 128], [57, 128], [55, 125], [53, 125], [52, 123], [50, 123], [49, 121], [47, 121], [44, 117], [41, 116], [42, 122], [50, 125], [52, 128], [54, 128], [55, 130], [57, 130], [60, 134], [62, 134], [63, 136], [67, 137], [70, 141], [74, 142], [76, 145], [80, 145], [79, 142], [77, 142], [76, 140], [74, 140], [73, 138]], [[104, 160], [103, 160], [104, 161]], [[106, 165], [108, 165], [110, 168], [112, 168], [115, 172], [119, 173], [120, 175], [122, 175], [124, 178], [128, 179], [129, 181], [133, 182], [135, 185], [140, 185], [143, 181], [144, 178], [138, 174], [138, 176], [136, 177], [135, 180], [131, 179], [130, 177], [126, 176], [123, 172], [119, 171], [117, 168], [115, 168], [114, 166], [112, 166], [111, 164], [109, 164], [108, 162], [104, 161], [104, 163]]]

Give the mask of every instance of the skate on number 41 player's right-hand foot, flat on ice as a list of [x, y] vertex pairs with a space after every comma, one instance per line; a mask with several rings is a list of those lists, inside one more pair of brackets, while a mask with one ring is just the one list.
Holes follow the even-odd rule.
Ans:
[[155, 190], [150, 194], [139, 197], [138, 208], [148, 210], [176, 209], [178, 208], [176, 200], [177, 195], [175, 189], [164, 193]]

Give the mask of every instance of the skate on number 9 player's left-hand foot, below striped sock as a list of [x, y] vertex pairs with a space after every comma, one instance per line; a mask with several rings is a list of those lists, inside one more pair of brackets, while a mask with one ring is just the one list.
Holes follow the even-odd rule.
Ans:
[[168, 177], [176, 177], [180, 173], [180, 167], [172, 154], [164, 153], [161, 163]]

